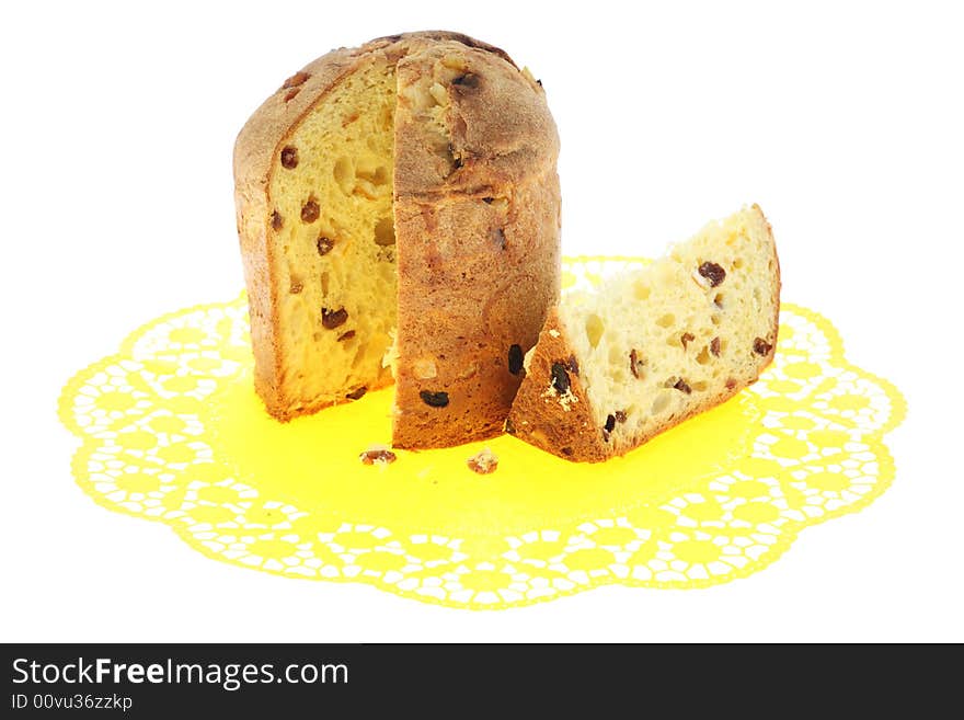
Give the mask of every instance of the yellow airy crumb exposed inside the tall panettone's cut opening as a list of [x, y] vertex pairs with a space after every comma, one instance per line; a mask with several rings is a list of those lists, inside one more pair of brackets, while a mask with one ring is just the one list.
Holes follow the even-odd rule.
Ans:
[[391, 382], [382, 358], [397, 324], [395, 101], [394, 66], [375, 59], [337, 83], [278, 149], [268, 196], [289, 412]]

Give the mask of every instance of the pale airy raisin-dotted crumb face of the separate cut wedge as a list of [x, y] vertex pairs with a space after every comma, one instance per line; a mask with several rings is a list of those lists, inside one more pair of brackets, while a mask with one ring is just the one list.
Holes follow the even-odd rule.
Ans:
[[756, 378], [776, 343], [777, 259], [747, 208], [560, 304], [597, 426], [633, 437]]

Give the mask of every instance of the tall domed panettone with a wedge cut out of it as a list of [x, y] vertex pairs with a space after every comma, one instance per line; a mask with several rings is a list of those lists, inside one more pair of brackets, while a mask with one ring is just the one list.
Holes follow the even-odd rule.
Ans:
[[457, 33], [333, 50], [288, 78], [234, 148], [268, 412], [394, 380], [395, 447], [501, 432], [509, 357], [558, 297], [558, 153], [541, 84]]

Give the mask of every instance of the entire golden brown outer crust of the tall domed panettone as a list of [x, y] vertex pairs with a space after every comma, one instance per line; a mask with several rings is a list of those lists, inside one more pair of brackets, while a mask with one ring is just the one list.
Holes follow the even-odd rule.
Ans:
[[[398, 62], [400, 75], [426, 71], [446, 56], [463, 56], [482, 80], [449, 88], [452, 102], [446, 130], [449, 158], [460, 163], [458, 172], [451, 173], [446, 162], [439, 162], [436, 149], [426, 147], [424, 128], [397, 127], [395, 225], [403, 282], [395, 442], [402, 447], [428, 447], [491, 436], [501, 430], [519, 381], [505, 369], [504, 345], [513, 339], [528, 350], [558, 293], [559, 140], [541, 87], [503, 50], [459, 33], [406, 33], [332, 50], [285, 81], [239, 134], [236, 205], [255, 387], [268, 412], [279, 420], [322, 407], [307, 404], [291, 411], [285, 397], [278, 259], [268, 232], [272, 172], [301, 118], [342, 78], [377, 55]], [[492, 198], [506, 203], [485, 202]], [[418, 247], [423, 238], [432, 242]], [[493, 244], [505, 248], [493, 254]], [[493, 261], [503, 267], [493, 271]], [[432, 272], [443, 265], [445, 273]], [[486, 272], [487, 293], [482, 282]], [[494, 272], [497, 283], [491, 279]], [[450, 284], [439, 290], [443, 276]], [[519, 289], [521, 299], [512, 299], [512, 292]], [[445, 307], [449, 319], [432, 315], [439, 307]], [[493, 332], [491, 316], [500, 312], [507, 320]], [[427, 331], [429, 317], [443, 324]], [[446, 329], [444, 333], [439, 327]], [[445, 379], [458, 398], [444, 412], [425, 404], [420, 395], [424, 388], [411, 370], [413, 357], [429, 353], [439, 361], [439, 380]], [[473, 357], [478, 369], [463, 377]]]

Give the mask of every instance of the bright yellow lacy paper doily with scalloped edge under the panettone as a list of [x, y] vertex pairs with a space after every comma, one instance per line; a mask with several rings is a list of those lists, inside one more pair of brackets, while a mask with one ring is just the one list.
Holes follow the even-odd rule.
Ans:
[[[643, 262], [571, 259], [563, 282]], [[756, 385], [599, 465], [502, 436], [365, 466], [358, 454], [390, 439], [391, 389], [280, 424], [254, 395], [252, 362], [243, 295], [134, 332], [64, 388], [78, 484], [222, 562], [475, 609], [754, 573], [807, 525], [887, 488], [883, 435], [904, 416], [896, 388], [792, 305]], [[466, 466], [482, 447], [500, 458], [492, 475]]]

